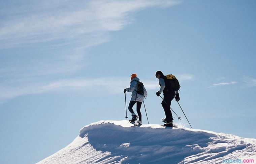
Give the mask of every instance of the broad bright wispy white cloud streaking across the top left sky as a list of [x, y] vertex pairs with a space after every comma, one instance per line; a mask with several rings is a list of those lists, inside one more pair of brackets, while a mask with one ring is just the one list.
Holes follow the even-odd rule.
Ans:
[[[20, 6], [10, 6], [15, 14], [3, 5], [0, 48], [39, 42], [56, 44], [56, 40], [57, 44], [60, 41], [98, 44], [108, 32], [122, 30], [130, 24], [136, 11], [178, 3], [174, 0], [24, 1]], [[101, 38], [97, 38], [98, 34]]]

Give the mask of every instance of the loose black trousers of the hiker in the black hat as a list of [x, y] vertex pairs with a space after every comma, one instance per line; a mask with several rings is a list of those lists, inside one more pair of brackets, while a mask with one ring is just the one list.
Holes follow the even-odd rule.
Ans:
[[[171, 114], [171, 100], [174, 98], [175, 92], [165, 92], [164, 93], [164, 100], [162, 101], [162, 106], [165, 113], [165, 118], [167, 122], [172, 122], [172, 114]], [[165, 102], [166, 103], [165, 103]]]

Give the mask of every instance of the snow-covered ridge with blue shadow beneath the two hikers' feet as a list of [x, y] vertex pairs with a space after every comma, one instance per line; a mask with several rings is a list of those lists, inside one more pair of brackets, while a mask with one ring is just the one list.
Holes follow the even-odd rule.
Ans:
[[37, 164], [219, 164], [254, 159], [256, 139], [156, 124], [134, 127], [127, 120], [85, 126], [67, 147]]

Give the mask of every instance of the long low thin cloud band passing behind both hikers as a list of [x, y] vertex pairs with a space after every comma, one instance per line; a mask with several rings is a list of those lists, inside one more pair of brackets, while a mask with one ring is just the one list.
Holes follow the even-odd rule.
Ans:
[[[191, 80], [190, 78], [183, 79]], [[143, 80], [147, 90], [157, 89], [158, 80]], [[45, 84], [29, 83], [28, 81], [19, 81], [20, 85], [12, 86], [10, 83], [0, 83], [0, 100], [11, 99], [14, 97], [28, 95], [28, 94], [40, 94], [45, 92], [60, 92], [60, 91], [83, 91], [90, 92], [91, 94], [120, 94], [122, 90], [129, 87], [129, 80], [123, 77], [102, 77], [102, 78], [74, 78], [74, 79], [62, 79]]]

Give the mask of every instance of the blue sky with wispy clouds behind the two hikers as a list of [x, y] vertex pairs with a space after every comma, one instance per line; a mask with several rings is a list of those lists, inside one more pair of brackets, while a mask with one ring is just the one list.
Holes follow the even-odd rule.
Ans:
[[[194, 128], [256, 138], [255, 1], [0, 6], [0, 163], [38, 162], [84, 125], [125, 119], [132, 73], [148, 90], [149, 122], [161, 124], [157, 70], [180, 80]], [[174, 101], [172, 108], [182, 116], [174, 122], [188, 127]]]

